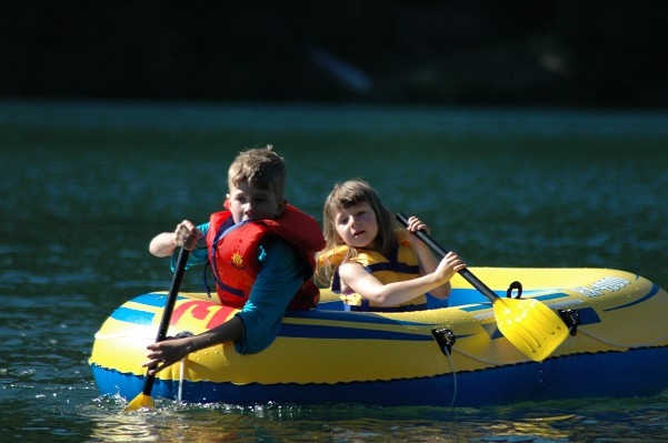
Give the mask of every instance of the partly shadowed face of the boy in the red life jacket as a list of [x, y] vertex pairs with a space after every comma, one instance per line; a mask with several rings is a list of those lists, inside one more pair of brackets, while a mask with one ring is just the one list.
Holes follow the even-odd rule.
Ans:
[[228, 200], [235, 223], [275, 219], [283, 211], [286, 204], [285, 200], [279, 201], [272, 190], [251, 187], [248, 180], [230, 185]]

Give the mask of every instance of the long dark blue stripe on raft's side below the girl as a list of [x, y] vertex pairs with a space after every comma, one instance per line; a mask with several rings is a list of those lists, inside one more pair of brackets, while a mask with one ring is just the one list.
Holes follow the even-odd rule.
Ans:
[[313, 324], [286, 324], [281, 325], [280, 336], [298, 339], [350, 339], [350, 340], [401, 340], [411, 342], [432, 341], [431, 335], [409, 334], [406, 332], [375, 331], [368, 329], [320, 326]]

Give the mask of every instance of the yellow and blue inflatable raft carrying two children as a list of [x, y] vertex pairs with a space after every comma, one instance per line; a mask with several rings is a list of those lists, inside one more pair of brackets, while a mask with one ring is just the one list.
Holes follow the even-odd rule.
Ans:
[[[289, 312], [265, 351], [232, 344], [190, 354], [157, 375], [153, 396], [185, 402], [481, 406], [564, 397], [655, 395], [668, 387], [668, 294], [609, 269], [471, 268], [500, 296], [558, 312], [568, 338], [542, 362], [498, 330], [491, 303], [459, 275], [448, 305], [417, 312], [347, 312], [329, 291], [318, 309]], [[508, 291], [510, 292], [510, 291]], [[517, 294], [508, 294], [517, 295]], [[141, 392], [147, 345], [167, 293], [119, 306], [96, 334], [90, 365], [102, 394]], [[180, 293], [168, 335], [198, 334], [236, 310], [206, 293]]]

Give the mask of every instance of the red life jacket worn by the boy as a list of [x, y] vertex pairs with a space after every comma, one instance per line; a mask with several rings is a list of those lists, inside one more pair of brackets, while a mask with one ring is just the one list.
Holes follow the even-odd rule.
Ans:
[[265, 235], [285, 239], [292, 245], [302, 263], [303, 283], [288, 309], [309, 309], [318, 304], [320, 291], [311, 281], [311, 276], [316, 269], [315, 253], [325, 248], [325, 239], [312, 217], [287, 204], [277, 219], [235, 225], [232, 214], [221, 211], [211, 214], [209, 222], [209, 261], [222, 304], [242, 308], [248, 301], [250, 290], [260, 272], [258, 248]]

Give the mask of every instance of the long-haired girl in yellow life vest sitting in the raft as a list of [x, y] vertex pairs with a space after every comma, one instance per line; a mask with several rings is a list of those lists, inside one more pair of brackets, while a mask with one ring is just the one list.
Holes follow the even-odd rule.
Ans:
[[408, 232], [395, 229], [392, 215], [376, 191], [362, 180], [335, 185], [325, 201], [327, 245], [318, 254], [318, 282], [331, 283], [352, 311], [415, 311], [427, 309], [426, 293], [450, 294], [449, 280], [466, 263], [449, 252], [438, 262], [416, 235], [429, 229], [416, 217]]

